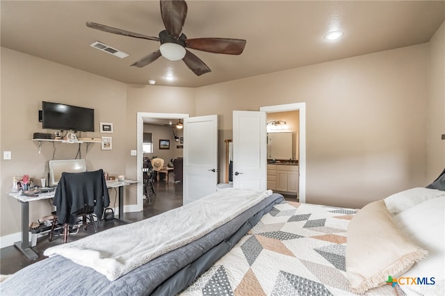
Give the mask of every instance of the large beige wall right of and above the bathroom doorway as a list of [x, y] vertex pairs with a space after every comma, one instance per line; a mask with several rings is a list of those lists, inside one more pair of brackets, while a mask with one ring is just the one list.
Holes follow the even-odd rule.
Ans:
[[425, 186], [428, 44], [197, 89], [197, 115], [306, 102], [307, 192], [361, 207]]

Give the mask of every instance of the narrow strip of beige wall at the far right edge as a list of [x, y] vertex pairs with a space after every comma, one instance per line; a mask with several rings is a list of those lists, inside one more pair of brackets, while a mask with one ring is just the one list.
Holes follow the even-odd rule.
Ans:
[[434, 180], [445, 167], [445, 22], [431, 38], [428, 54], [426, 117], [427, 176]]

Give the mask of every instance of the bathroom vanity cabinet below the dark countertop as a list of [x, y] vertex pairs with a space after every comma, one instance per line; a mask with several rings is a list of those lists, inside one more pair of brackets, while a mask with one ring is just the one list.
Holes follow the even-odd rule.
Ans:
[[267, 165], [267, 188], [298, 193], [298, 165]]

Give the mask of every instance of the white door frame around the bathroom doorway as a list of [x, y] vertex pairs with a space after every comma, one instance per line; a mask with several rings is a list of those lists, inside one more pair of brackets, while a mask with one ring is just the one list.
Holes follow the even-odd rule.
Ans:
[[300, 179], [298, 181], [298, 198], [299, 202], [306, 202], [306, 103], [293, 103], [275, 106], [264, 106], [259, 108], [260, 111], [266, 113], [284, 112], [284, 111], [300, 111], [300, 122], [298, 126], [298, 170]]

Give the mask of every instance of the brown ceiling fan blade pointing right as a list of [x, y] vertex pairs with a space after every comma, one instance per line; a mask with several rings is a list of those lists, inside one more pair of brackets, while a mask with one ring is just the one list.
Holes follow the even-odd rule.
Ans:
[[195, 38], [186, 39], [186, 47], [214, 54], [241, 54], [245, 47], [245, 40], [230, 38]]

